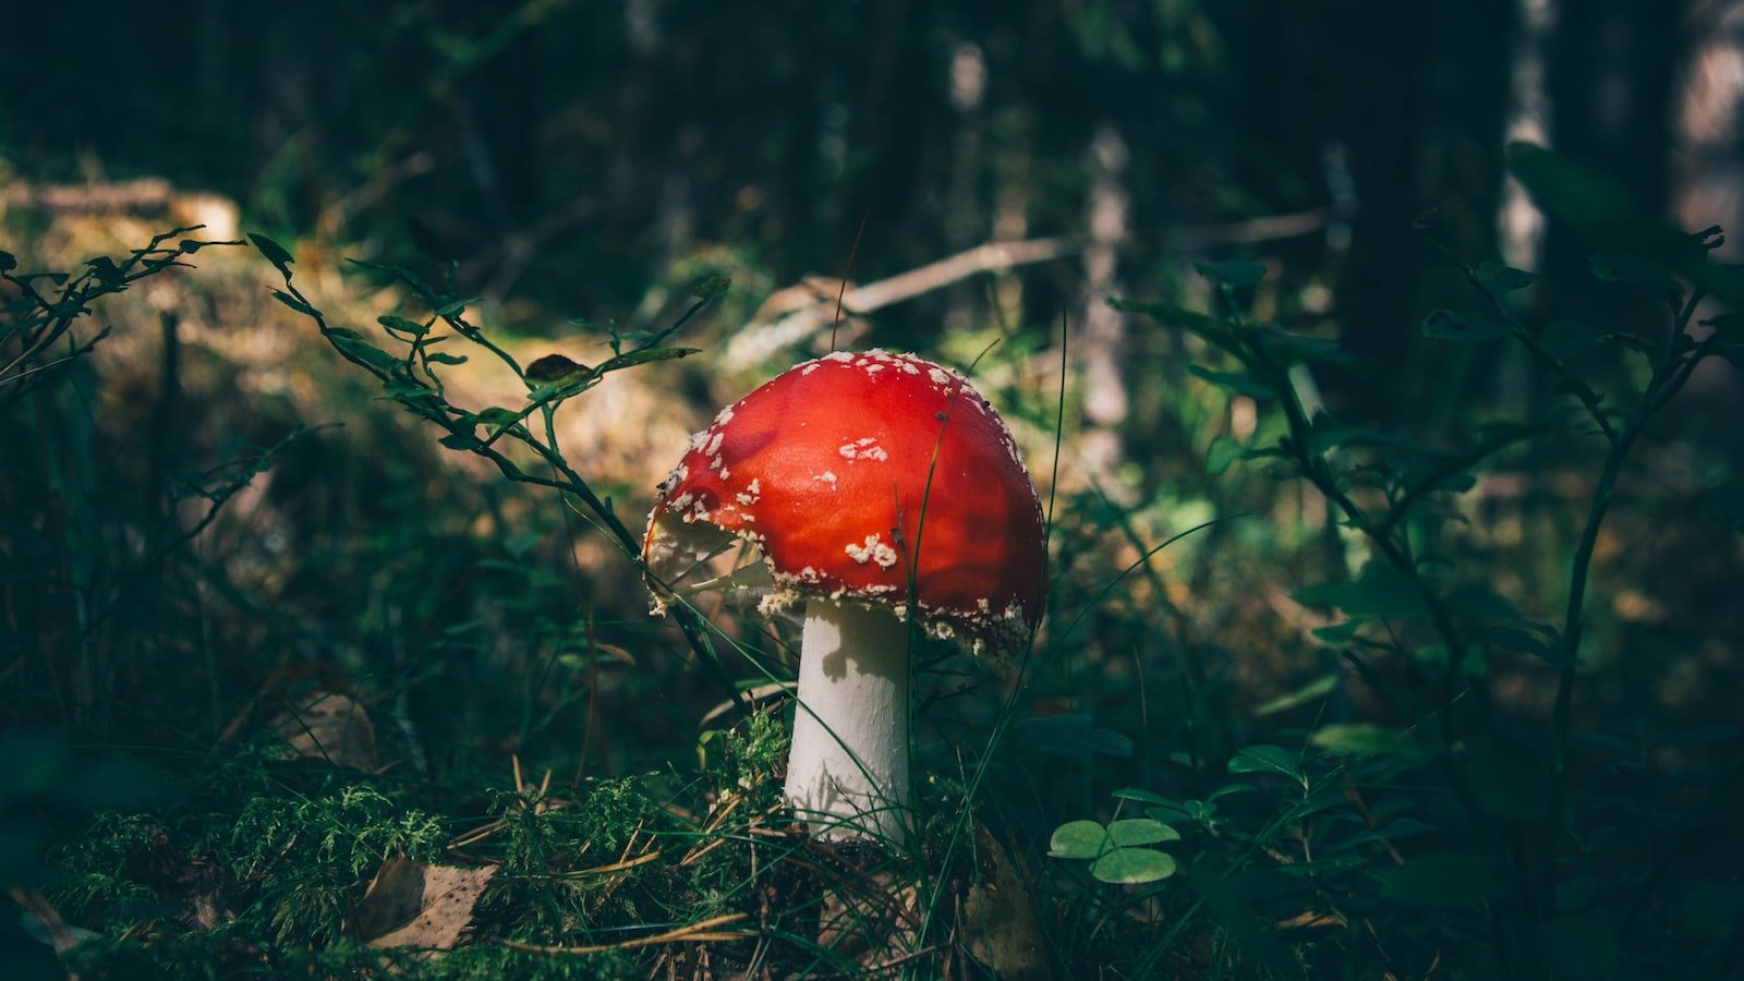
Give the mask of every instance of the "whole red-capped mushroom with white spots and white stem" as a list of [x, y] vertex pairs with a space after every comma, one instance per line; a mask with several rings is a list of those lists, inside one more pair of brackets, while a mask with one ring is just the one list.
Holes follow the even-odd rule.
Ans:
[[[715, 576], [734, 545], [746, 560]], [[804, 604], [785, 792], [820, 840], [905, 838], [909, 616], [1008, 655], [1046, 592], [1010, 429], [963, 375], [884, 351], [797, 365], [722, 410], [661, 484], [642, 557], [656, 613], [703, 590]]]

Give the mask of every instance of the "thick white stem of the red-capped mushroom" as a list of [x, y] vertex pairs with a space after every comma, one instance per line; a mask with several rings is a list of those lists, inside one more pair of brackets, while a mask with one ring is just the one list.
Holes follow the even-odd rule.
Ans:
[[909, 627], [891, 611], [806, 602], [787, 803], [818, 840], [907, 841]]

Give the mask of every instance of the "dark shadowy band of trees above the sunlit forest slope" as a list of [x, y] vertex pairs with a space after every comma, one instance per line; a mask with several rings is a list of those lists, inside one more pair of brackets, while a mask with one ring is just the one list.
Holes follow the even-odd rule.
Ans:
[[[1458, 279], [1420, 216], [1461, 255], [1543, 250], [1568, 312], [1611, 305], [1559, 283], [1585, 246], [1510, 218], [1509, 138], [1727, 223], [1734, 30], [1728, 3], [1645, 0], [51, 9], [9, 33], [0, 138], [16, 180], [167, 178], [349, 251], [415, 216], [464, 285], [562, 311], [635, 311], [710, 251], [760, 300], [851, 251], [863, 283], [1059, 239], [1010, 311], [1050, 323], [1188, 258], [1277, 257], [1325, 290], [1301, 316], [1390, 367], [1346, 398], [1397, 417], [1432, 374], [1409, 326]], [[980, 293], [877, 340], [985, 319]]]

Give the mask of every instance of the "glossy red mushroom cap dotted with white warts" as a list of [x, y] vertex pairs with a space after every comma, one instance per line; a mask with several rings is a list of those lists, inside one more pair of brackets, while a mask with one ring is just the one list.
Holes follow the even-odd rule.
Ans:
[[963, 375], [912, 354], [806, 361], [691, 438], [649, 515], [656, 593], [734, 538], [767, 566], [729, 578], [764, 613], [825, 595], [905, 616], [912, 573], [923, 621], [975, 649], [1017, 649], [1041, 618], [1041, 499], [1017, 443]]

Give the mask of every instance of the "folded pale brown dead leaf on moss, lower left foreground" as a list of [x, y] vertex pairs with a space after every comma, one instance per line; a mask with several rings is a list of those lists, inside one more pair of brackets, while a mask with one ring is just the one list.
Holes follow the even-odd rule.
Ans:
[[394, 855], [363, 894], [352, 934], [377, 948], [448, 950], [460, 943], [478, 897], [495, 875], [497, 866], [427, 866]]

